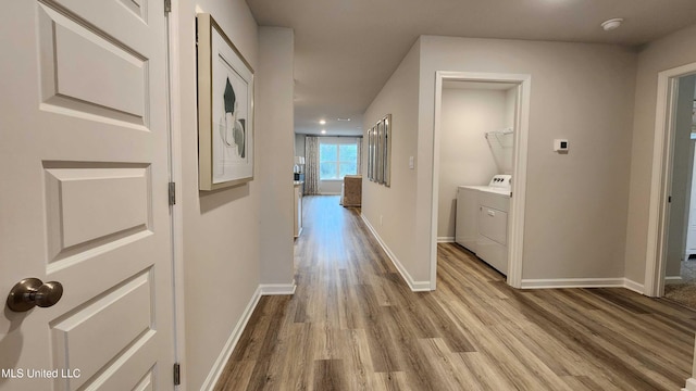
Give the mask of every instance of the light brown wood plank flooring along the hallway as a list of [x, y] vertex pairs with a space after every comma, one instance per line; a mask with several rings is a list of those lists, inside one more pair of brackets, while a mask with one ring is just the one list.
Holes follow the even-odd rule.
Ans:
[[456, 244], [411, 292], [335, 197], [304, 199], [297, 292], [259, 302], [215, 390], [679, 390], [696, 312], [625, 289], [520, 291]]

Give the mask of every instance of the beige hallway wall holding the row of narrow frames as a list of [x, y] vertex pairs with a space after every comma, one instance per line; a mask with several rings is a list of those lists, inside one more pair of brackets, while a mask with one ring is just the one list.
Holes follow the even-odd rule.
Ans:
[[428, 281], [427, 268], [419, 269], [420, 264], [413, 256], [418, 162], [415, 169], [409, 168], [409, 156], [415, 156], [418, 149], [419, 59], [420, 42], [417, 41], [363, 115], [362, 167], [366, 173], [366, 129], [391, 114], [391, 181], [390, 187], [385, 187], [363, 175], [362, 215], [411, 277]]

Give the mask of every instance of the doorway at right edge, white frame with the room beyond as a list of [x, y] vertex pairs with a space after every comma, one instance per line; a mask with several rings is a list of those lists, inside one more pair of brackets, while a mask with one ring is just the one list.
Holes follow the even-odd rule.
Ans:
[[[667, 289], [670, 292], [686, 288], [680, 295], [684, 300], [693, 297], [692, 305], [696, 305], [696, 272], [689, 272], [696, 270], [696, 267], [689, 268], [691, 265], [696, 266], [694, 260], [689, 261], [692, 254], [696, 255], [696, 202], [692, 202], [692, 197], [696, 195], [692, 191], [695, 182], [695, 90], [696, 63], [658, 75], [644, 287], [646, 295], [657, 298], [666, 294], [667, 285], [671, 286]], [[692, 226], [694, 228], [689, 229]]]

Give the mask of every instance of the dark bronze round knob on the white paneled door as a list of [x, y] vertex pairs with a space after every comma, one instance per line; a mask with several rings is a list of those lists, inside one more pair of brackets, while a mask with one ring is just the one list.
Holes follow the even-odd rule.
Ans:
[[25, 278], [17, 282], [8, 295], [8, 307], [26, 312], [34, 306], [49, 307], [63, 297], [63, 286], [58, 281], [44, 283], [38, 278]]

